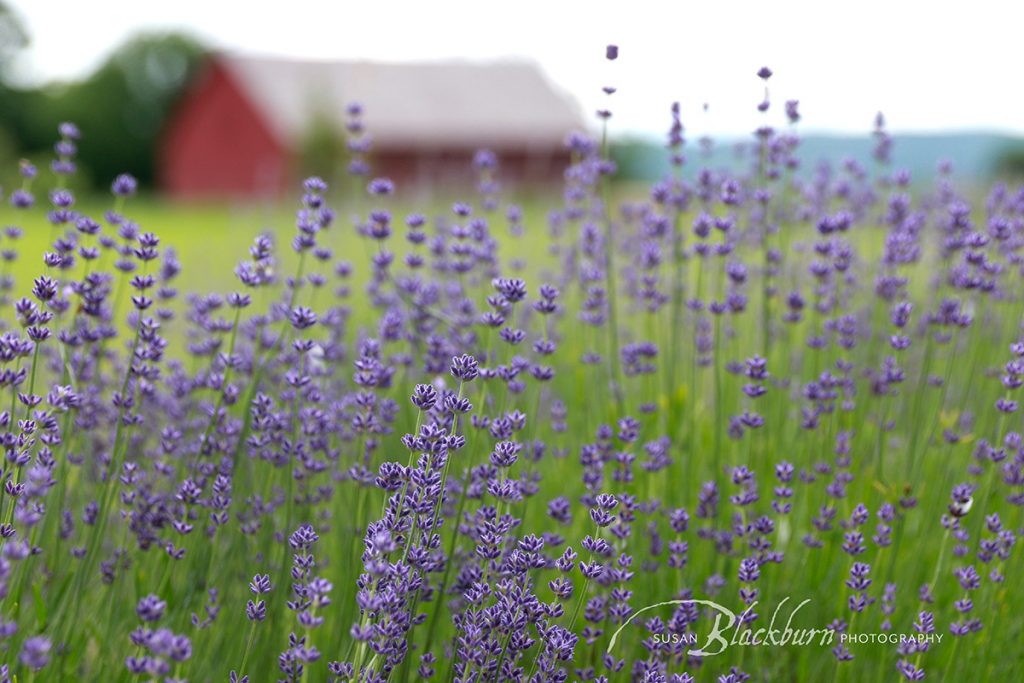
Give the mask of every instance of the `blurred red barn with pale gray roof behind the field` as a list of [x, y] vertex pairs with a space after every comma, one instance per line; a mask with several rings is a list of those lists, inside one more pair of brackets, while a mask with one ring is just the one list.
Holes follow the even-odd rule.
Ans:
[[314, 125], [342, 135], [345, 106], [364, 106], [374, 175], [399, 183], [462, 179], [476, 150], [501, 177], [548, 182], [567, 162], [565, 135], [585, 127], [575, 102], [535, 65], [297, 61], [218, 54], [188, 89], [159, 151], [172, 197], [286, 191]]

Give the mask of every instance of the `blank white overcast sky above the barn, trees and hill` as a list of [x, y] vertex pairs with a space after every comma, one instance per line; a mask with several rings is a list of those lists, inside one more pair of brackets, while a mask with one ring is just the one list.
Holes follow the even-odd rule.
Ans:
[[[612, 125], [660, 133], [679, 99], [688, 135], [746, 133], [767, 65], [774, 123], [805, 129], [1024, 133], [1019, 0], [8, 0], [32, 36], [24, 80], [84, 75], [139, 30], [214, 47], [385, 60], [526, 57]], [[265, 7], [265, 8], [264, 8]], [[617, 61], [605, 44], [620, 45]], [[702, 102], [710, 112], [701, 112]]]

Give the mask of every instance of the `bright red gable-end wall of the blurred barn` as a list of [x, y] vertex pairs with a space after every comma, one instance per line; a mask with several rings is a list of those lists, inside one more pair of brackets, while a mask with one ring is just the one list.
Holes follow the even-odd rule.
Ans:
[[288, 154], [216, 60], [172, 114], [159, 156], [161, 187], [177, 199], [276, 196]]

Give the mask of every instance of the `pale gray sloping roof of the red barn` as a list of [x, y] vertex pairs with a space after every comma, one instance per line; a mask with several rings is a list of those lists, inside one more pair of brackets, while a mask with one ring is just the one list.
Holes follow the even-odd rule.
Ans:
[[342, 125], [353, 101], [378, 148], [546, 147], [585, 127], [577, 102], [529, 62], [218, 59], [285, 142], [317, 117]]

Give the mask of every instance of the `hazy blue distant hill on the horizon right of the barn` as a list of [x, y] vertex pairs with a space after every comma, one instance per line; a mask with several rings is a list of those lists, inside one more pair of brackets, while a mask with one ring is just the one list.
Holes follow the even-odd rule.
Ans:
[[[993, 133], [902, 134], [894, 135], [893, 168], [910, 171], [915, 181], [935, 174], [941, 161], [952, 162], [953, 174], [964, 179], [980, 179], [993, 175], [1000, 158], [1024, 148], [1024, 138]], [[711, 158], [706, 160], [695, 140], [687, 141], [686, 157], [689, 173], [700, 166], [734, 168], [737, 166], [736, 146], [751, 139], [715, 140]], [[843, 136], [812, 134], [801, 137], [799, 157], [803, 172], [810, 172], [821, 161], [834, 164], [856, 159], [870, 166], [873, 140], [869, 135]], [[650, 139], [623, 140], [614, 146], [615, 160], [623, 177], [653, 180], [669, 171], [669, 159], [664, 145]]]

